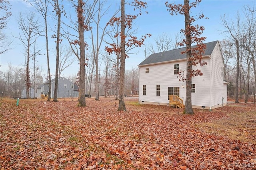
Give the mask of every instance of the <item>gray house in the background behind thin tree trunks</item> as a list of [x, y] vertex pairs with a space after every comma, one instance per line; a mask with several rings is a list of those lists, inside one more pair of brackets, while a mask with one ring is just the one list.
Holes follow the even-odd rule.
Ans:
[[[44, 83], [44, 86], [41, 88], [43, 89], [41, 94], [48, 95], [49, 86], [51, 86], [51, 97], [54, 96], [54, 87], [55, 87], [55, 79], [51, 80], [51, 84], [49, 85], [49, 81]], [[66, 79], [65, 77], [58, 78], [58, 98], [64, 97], [78, 97], [78, 86], [72, 81]]]

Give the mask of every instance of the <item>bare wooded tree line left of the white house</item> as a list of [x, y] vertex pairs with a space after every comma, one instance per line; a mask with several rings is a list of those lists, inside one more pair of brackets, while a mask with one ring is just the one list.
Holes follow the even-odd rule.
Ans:
[[[100, 90], [103, 91], [103, 89], [105, 95], [114, 94], [116, 99], [120, 96], [119, 99], [122, 101], [124, 81], [128, 81], [124, 79], [124, 60], [128, 57], [128, 51], [134, 47], [141, 46], [144, 39], [150, 36], [146, 35], [142, 36], [142, 38], [137, 38], [134, 36], [136, 29], [132, 28], [132, 20], [142, 14], [141, 9], [145, 8], [146, 3], [137, 0], [126, 3], [126, 5], [131, 6], [134, 10], [139, 10], [139, 14], [125, 14], [121, 20], [120, 8], [116, 8], [116, 11], [112, 13], [112, 16], [108, 18], [106, 23], [106, 15], [110, 13], [110, 6], [107, 4], [107, 1], [70, 0], [68, 3], [72, 8], [65, 7], [64, 4], [67, 3], [60, 0], [25, 1], [34, 7], [34, 12], [20, 13], [20, 17], [17, 19], [20, 33], [16, 38], [24, 46], [25, 68], [20, 69], [22, 78], [18, 83], [20, 84], [19, 88], [16, 88], [15, 83], [13, 83], [12, 77], [14, 77], [15, 73], [11, 65], [6, 73], [1, 74], [3, 95], [8, 97], [20, 96], [21, 90], [25, 86], [26, 96], [28, 98], [32, 97], [30, 96], [29, 89], [36, 89], [36, 86], [42, 83], [36, 81], [36, 56], [46, 55], [48, 66], [46, 80], [51, 81], [54, 78], [52, 73], [55, 71], [56, 82], [54, 96], [50, 96], [51, 89], [49, 89], [48, 100], [53, 98], [53, 101], [58, 101], [58, 77], [61, 77], [61, 72], [74, 62], [74, 58], [70, 54], [72, 53], [80, 65], [77, 75], [78, 79], [74, 80], [74, 76], [70, 77], [70, 80], [72, 78], [72, 81], [76, 82], [79, 86], [78, 105], [86, 106], [85, 93], [94, 93], [95, 99], [99, 100]], [[8, 0], [5, 2], [9, 5]], [[66, 12], [67, 8], [68, 13]], [[8, 8], [8, 10], [10, 9]], [[35, 15], [38, 13], [40, 14], [39, 16]], [[74, 16], [77, 18], [74, 19]], [[42, 21], [44, 24], [42, 24]], [[8, 20], [6, 20], [6, 23], [8, 23]], [[126, 27], [127, 29], [124, 31]], [[50, 31], [49, 28], [51, 29]], [[121, 28], [123, 29], [122, 31]], [[54, 71], [50, 70], [49, 67], [49, 36], [56, 43], [56, 69]], [[85, 41], [85, 36], [89, 39], [88, 42]], [[42, 37], [45, 38], [45, 49], [36, 46], [39, 39], [42, 41]], [[70, 46], [64, 50], [66, 54], [62, 55], [61, 48], [64, 41], [68, 42]], [[102, 45], [103, 43], [105, 46]], [[126, 45], [125, 49], [120, 50], [121, 43], [123, 43], [123, 46]], [[123, 51], [122, 55], [124, 57], [121, 57], [121, 51]], [[34, 61], [35, 67], [33, 75], [30, 65], [32, 61]], [[103, 69], [101, 66], [102, 61], [104, 61], [106, 66], [104, 68], [105, 76], [100, 75], [100, 68]], [[101, 83], [102, 89], [100, 89]], [[122, 84], [122, 87], [120, 87], [120, 84]], [[130, 84], [129, 91], [135, 91], [131, 89], [132, 87], [136, 88], [135, 83], [132, 82]], [[15, 86], [15, 90], [11, 90], [12, 86]], [[109, 92], [109, 89], [111, 92]], [[121, 92], [119, 91], [120, 89], [122, 89]]]

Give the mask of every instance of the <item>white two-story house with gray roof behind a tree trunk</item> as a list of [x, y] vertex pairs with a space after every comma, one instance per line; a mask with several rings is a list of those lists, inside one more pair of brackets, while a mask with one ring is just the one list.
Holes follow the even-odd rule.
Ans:
[[[202, 76], [192, 78], [192, 107], [214, 109], [227, 105], [227, 85], [224, 81], [224, 62], [218, 41], [205, 43], [202, 61], [197, 66]], [[193, 46], [192, 46], [193, 47]], [[179, 81], [179, 72], [186, 76], [186, 47], [154, 53], [139, 67], [139, 103], [169, 105], [169, 95], [186, 103], [186, 82]]]

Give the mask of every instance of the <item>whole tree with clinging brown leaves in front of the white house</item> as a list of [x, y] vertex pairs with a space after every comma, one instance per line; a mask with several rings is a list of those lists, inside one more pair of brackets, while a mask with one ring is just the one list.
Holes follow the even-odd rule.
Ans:
[[[168, 11], [171, 15], [181, 14], [185, 16], [185, 30], [182, 29], [181, 32], [184, 33], [186, 39], [178, 43], [180, 46], [186, 45], [186, 51], [182, 52], [182, 54], [186, 53], [187, 56], [186, 77], [180, 73], [180, 80], [186, 81], [185, 114], [194, 114], [191, 100], [192, 77], [203, 75], [200, 69], [194, 70], [193, 67], [196, 67], [197, 65], [207, 65], [205, 61], [202, 61], [202, 55], [204, 54], [204, 49], [206, 48], [206, 45], [204, 45], [203, 41], [206, 39], [206, 37], [200, 37], [205, 28], [204, 26], [192, 25], [197, 19], [204, 18], [204, 14], [200, 14], [198, 18], [190, 16], [191, 8], [196, 8], [200, 2], [201, 0], [195, 0], [189, 3], [189, 0], [184, 0], [184, 4], [169, 4], [168, 2], [165, 3], [169, 8]], [[191, 47], [193, 43], [196, 43], [196, 47], [194, 48]]]

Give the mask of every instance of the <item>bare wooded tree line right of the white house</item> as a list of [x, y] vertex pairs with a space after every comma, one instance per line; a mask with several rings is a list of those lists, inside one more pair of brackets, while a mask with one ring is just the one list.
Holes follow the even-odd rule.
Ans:
[[224, 79], [230, 82], [228, 96], [235, 102], [248, 102], [256, 93], [256, 8], [244, 6], [236, 20], [221, 17], [222, 32], [227, 36], [220, 42], [224, 57]]

